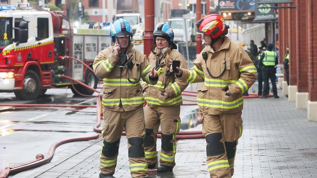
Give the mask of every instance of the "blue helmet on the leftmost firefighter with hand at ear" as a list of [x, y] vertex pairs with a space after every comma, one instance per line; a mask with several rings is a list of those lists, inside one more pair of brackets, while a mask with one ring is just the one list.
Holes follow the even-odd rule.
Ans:
[[110, 36], [113, 41], [116, 41], [116, 36], [131, 36], [132, 38], [132, 28], [130, 23], [122, 18], [114, 21], [111, 26]]

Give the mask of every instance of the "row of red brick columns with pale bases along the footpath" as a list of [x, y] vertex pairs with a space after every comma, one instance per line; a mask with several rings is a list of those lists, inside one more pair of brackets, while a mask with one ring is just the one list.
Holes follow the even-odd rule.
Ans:
[[[295, 101], [298, 109], [307, 108], [310, 121], [317, 121], [317, 3], [315, 0], [293, 0], [278, 6], [280, 62], [284, 60], [286, 45], [290, 51], [290, 85], [283, 81], [283, 93]], [[286, 89], [287, 88], [287, 89]]]

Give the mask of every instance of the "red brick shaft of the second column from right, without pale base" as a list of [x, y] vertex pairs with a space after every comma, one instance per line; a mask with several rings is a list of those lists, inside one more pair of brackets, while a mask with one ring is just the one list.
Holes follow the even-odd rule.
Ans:
[[[307, 50], [307, 21], [306, 0], [296, 1], [296, 60], [297, 60], [297, 91], [308, 92], [308, 50]], [[291, 60], [293, 58], [291, 57]]]

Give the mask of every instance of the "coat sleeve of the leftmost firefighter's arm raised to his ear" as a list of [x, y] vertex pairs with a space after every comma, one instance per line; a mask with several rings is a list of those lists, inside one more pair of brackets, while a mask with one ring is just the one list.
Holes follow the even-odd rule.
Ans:
[[96, 56], [93, 63], [95, 75], [100, 79], [105, 78], [107, 75], [109, 75], [109, 73], [111, 73], [118, 59], [119, 57], [112, 53], [110, 48], [101, 51]]

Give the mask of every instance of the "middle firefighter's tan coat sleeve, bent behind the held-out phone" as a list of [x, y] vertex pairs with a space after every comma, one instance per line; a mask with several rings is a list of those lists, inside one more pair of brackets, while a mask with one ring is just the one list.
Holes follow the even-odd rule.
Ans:
[[[178, 55], [176, 60], [180, 61], [179, 67], [182, 69], [187, 69], [187, 63], [181, 54]], [[174, 75], [175, 76], [175, 75]], [[175, 82], [169, 85], [165, 91], [169, 97], [175, 97], [181, 94], [181, 92], [188, 86], [187, 82], [180, 80], [180, 78], [175, 77]]]

